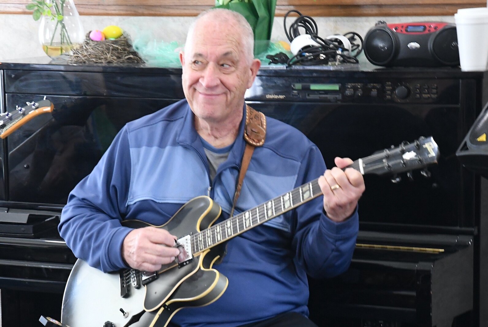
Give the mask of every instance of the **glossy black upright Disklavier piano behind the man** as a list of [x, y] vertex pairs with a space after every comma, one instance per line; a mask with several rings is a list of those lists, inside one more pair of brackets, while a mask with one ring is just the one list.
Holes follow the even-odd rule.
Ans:
[[[421, 136], [441, 153], [428, 178], [365, 176], [350, 268], [309, 280], [317, 325], [487, 326], [486, 186], [455, 155], [488, 101], [487, 78], [456, 68], [262, 67], [246, 102], [304, 132], [329, 167]], [[0, 141], [1, 319], [36, 327], [40, 315], [60, 319], [76, 261], [56, 229], [69, 191], [126, 122], [184, 97], [181, 69], [2, 62], [0, 92], [2, 113], [44, 97], [54, 104]]]

